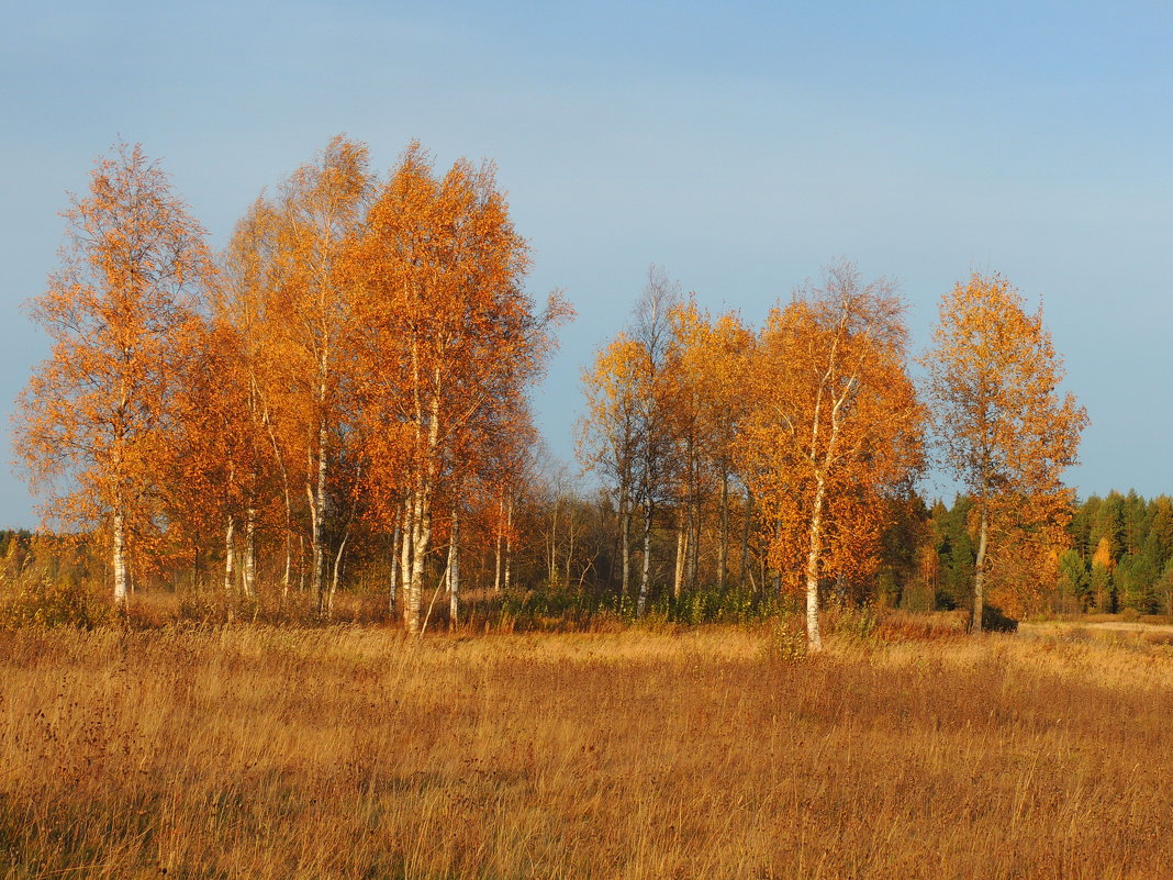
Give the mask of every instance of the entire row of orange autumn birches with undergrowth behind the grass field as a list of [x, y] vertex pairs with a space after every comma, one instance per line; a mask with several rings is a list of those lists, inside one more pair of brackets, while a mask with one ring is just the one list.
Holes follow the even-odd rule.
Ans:
[[[916, 356], [904, 293], [847, 260], [758, 325], [653, 265], [579, 387], [547, 392], [582, 395], [574, 471], [531, 400], [574, 310], [526, 291], [490, 162], [412, 143], [380, 174], [338, 136], [213, 253], [118, 144], [65, 218], [14, 448], [46, 534], [123, 612], [163, 590], [242, 620], [358, 602], [411, 635], [793, 615], [818, 651], [849, 609], [981, 631], [1173, 601], [1173, 534], [1130, 556], [1079, 533], [1087, 415], [998, 276], [945, 292]], [[921, 494], [935, 465], [951, 507]]]

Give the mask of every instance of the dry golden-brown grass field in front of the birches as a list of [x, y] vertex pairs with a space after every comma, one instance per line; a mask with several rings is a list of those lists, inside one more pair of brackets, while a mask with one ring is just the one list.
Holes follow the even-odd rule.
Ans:
[[781, 649], [0, 632], [0, 876], [1173, 876], [1169, 647]]

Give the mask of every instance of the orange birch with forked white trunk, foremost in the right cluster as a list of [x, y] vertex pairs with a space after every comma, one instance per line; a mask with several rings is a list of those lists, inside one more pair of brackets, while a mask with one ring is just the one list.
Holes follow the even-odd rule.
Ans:
[[754, 497], [773, 523], [769, 559], [801, 571], [807, 642], [820, 650], [820, 583], [875, 566], [886, 492], [921, 460], [923, 409], [904, 371], [903, 304], [849, 263], [775, 307], [751, 361], [738, 441]]

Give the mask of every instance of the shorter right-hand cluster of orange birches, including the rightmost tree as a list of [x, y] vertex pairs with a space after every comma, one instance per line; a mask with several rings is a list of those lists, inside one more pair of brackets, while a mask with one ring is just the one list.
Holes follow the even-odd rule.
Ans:
[[903, 313], [893, 284], [866, 283], [843, 262], [754, 331], [735, 313], [699, 311], [651, 271], [630, 326], [584, 373], [581, 425], [582, 460], [617, 512], [618, 588], [638, 611], [656, 587], [659, 523], [676, 535], [658, 544], [674, 557], [660, 568], [676, 595], [698, 577], [724, 588], [734, 567], [743, 585], [768, 577], [805, 594], [819, 648], [821, 597], [874, 593], [883, 539], [907, 519], [934, 453], [975, 502], [974, 628], [991, 574], [999, 587], [1055, 582], [1074, 502], [1060, 478], [1086, 414], [1059, 395], [1042, 313], [1002, 278], [958, 284], [921, 357], [921, 393]]

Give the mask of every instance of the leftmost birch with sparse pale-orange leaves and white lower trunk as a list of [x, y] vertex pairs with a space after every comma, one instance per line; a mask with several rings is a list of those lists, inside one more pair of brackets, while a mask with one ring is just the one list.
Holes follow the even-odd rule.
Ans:
[[106, 527], [122, 607], [128, 539], [145, 540], [158, 509], [174, 341], [211, 266], [204, 230], [138, 145], [101, 158], [65, 216], [61, 268], [30, 304], [53, 350], [20, 395], [14, 447], [47, 517]]

